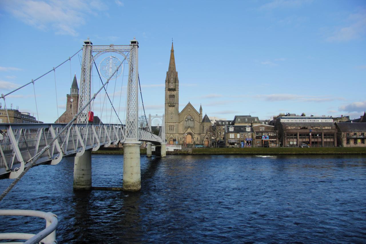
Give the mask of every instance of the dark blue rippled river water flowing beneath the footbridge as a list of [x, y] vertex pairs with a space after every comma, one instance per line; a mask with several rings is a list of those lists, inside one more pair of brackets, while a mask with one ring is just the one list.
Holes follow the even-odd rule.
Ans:
[[[122, 186], [123, 155], [92, 155], [92, 168], [93, 186]], [[55, 213], [59, 243], [366, 242], [365, 156], [142, 156], [134, 193], [72, 179], [73, 158], [34, 167], [0, 208]], [[0, 232], [44, 225], [0, 218]]]

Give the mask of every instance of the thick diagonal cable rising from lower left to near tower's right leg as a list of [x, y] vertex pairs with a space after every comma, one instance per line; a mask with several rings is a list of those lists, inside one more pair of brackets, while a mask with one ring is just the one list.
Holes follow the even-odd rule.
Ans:
[[[119, 69], [119, 67], [121, 65], [122, 65], [122, 63], [113, 72], [111, 77], [117, 72], [117, 70]], [[37, 160], [42, 156], [42, 154], [52, 145], [52, 143], [54, 143], [57, 140], [57, 138], [59, 138], [61, 136], [61, 133], [63, 133], [68, 127], [70, 127], [70, 125], [72, 123], [74, 123], [76, 118], [85, 110], [85, 108], [91, 103], [91, 101], [93, 101], [96, 98], [97, 94], [104, 88], [104, 86], [109, 83], [109, 80], [111, 80], [111, 77], [108, 78], [107, 82], [105, 82], [105, 84], [98, 90], [98, 92], [95, 93], [90, 98], [90, 100], [80, 109], [80, 111], [74, 116], [74, 118], [72, 118], [71, 121], [68, 122], [67, 125], [65, 127], [63, 127], [63, 129], [54, 138], [52, 138], [51, 142], [49, 144], [47, 144], [40, 152], [38, 152], [37, 156], [35, 156], [31, 160], [29, 160], [29, 161], [31, 161], [31, 163], [23, 170], [22, 173], [19, 174], [18, 177], [15, 178], [15, 180], [8, 186], [8, 188], [5, 189], [5, 191], [0, 195], [0, 201], [4, 199], [4, 197], [11, 191], [11, 189], [16, 185], [16, 183], [18, 183], [18, 181], [25, 175], [25, 173], [27, 173], [27, 171], [34, 165], [34, 163], [37, 162]], [[29, 162], [29, 161], [27, 161], [27, 162]]]

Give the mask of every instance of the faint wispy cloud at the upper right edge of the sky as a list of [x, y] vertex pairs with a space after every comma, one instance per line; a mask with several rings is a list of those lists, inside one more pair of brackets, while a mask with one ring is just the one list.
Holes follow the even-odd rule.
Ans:
[[331, 36], [326, 38], [329, 42], [344, 42], [358, 39], [366, 33], [366, 10], [350, 14], [347, 18], [348, 25], [338, 27]]

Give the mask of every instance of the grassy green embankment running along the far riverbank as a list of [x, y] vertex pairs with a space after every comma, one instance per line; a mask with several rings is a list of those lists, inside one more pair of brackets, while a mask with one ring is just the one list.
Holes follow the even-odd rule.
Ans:
[[[121, 151], [98, 150], [94, 154], [123, 154]], [[141, 154], [146, 154], [142, 148]], [[192, 148], [188, 151], [167, 152], [167, 154], [194, 155], [291, 155], [291, 154], [366, 154], [366, 148], [357, 147], [313, 147], [313, 148]]]

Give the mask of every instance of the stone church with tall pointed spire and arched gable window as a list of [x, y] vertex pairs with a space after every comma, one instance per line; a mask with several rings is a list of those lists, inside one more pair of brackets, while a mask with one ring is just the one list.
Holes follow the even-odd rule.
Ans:
[[208, 116], [202, 118], [202, 106], [199, 112], [191, 103], [179, 112], [179, 79], [175, 67], [174, 49], [170, 51], [169, 67], [165, 78], [165, 136], [169, 144], [203, 144], [210, 146], [211, 121]]

